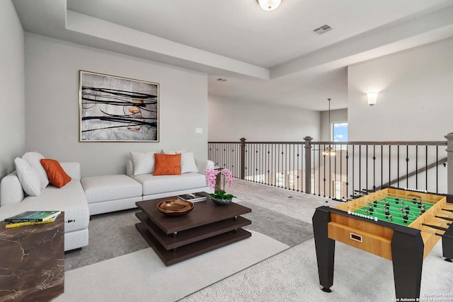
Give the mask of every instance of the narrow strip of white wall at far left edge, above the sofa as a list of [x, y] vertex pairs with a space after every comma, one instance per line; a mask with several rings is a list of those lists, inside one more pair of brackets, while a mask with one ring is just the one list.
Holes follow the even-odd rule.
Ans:
[[0, 1], [0, 178], [25, 149], [24, 34], [11, 0]]

